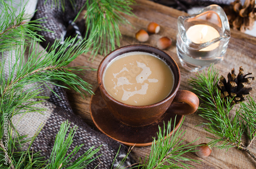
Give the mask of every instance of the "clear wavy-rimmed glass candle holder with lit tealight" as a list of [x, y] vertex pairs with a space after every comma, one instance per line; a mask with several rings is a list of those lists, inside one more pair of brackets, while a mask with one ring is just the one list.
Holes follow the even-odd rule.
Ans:
[[177, 55], [182, 66], [189, 71], [198, 71], [222, 61], [229, 38], [228, 19], [218, 5], [178, 18]]

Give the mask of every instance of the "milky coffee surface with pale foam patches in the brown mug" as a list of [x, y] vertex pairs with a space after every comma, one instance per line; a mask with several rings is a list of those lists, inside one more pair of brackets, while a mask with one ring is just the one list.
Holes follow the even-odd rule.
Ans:
[[173, 89], [169, 66], [153, 54], [130, 52], [113, 59], [103, 73], [106, 91], [129, 105], [150, 105], [165, 99]]

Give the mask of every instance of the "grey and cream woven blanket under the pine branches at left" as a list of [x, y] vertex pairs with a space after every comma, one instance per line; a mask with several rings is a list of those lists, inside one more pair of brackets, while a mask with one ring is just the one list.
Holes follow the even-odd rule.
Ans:
[[[42, 21], [46, 22], [42, 22], [42, 26], [52, 31], [51, 33], [44, 31], [39, 32], [40, 35], [45, 36], [46, 41], [42, 42], [41, 44], [44, 47], [46, 47], [48, 44], [52, 45], [55, 39], [64, 39], [65, 35], [67, 34], [66, 28], [68, 25], [73, 25], [72, 20], [84, 5], [85, 0], [76, 1], [75, 8], [72, 8], [70, 1], [66, 0], [65, 12], [58, 7], [60, 4], [54, 5], [55, 2], [60, 3], [61, 1], [39, 0], [37, 2], [34, 0], [29, 0], [26, 5], [26, 13], [33, 14], [35, 9], [37, 9], [37, 12], [34, 14], [34, 19], [44, 18]], [[19, 0], [17, 0], [16, 4], [19, 4]], [[39, 47], [39, 50], [44, 50], [41, 46], [37, 47]], [[9, 69], [9, 66], [14, 64], [10, 63], [11, 61], [8, 61], [9, 57], [9, 53], [0, 54], [0, 60], [6, 60], [6, 65], [4, 65], [6, 70]], [[8, 71], [6, 71], [6, 73], [8, 73]], [[17, 72], [14, 74], [17, 75]], [[6, 74], [6, 78], [7, 77], [8, 75]], [[70, 127], [78, 127], [75, 136], [73, 137], [71, 149], [68, 150], [68, 153], [71, 153], [76, 146], [83, 144], [79, 152], [74, 158], [72, 158], [73, 161], [75, 161], [75, 159], [77, 159], [79, 156], [83, 155], [91, 147], [95, 146], [94, 149], [96, 149], [101, 146], [100, 151], [94, 157], [99, 155], [101, 156], [89, 163], [87, 168], [106, 169], [111, 168], [112, 164], [114, 164], [114, 168], [115, 166], [118, 166], [123, 157], [127, 154], [127, 147], [104, 135], [103, 133], [92, 129], [90, 126], [84, 123], [79, 116], [72, 112], [65, 91], [58, 86], [52, 86], [50, 84], [48, 85], [55, 93], [58, 94], [59, 97], [53, 94], [53, 92], [51, 92], [51, 90], [49, 90], [47, 87], [40, 86], [40, 88], [44, 90], [42, 94], [45, 96], [50, 96], [50, 99], [46, 102], [36, 105], [38, 108], [45, 108], [45, 111], [41, 113], [20, 113], [12, 118], [12, 123], [15, 125], [17, 132], [20, 135], [28, 135], [28, 138], [33, 137], [39, 126], [43, 124], [41, 131], [32, 144], [31, 150], [34, 152], [40, 151], [42, 156], [49, 159], [60, 125], [62, 122], [68, 120], [69, 123], [71, 123]], [[31, 86], [28, 85], [27, 87], [29, 88]], [[24, 146], [24, 149], [28, 148], [28, 144], [29, 143]], [[114, 161], [119, 148], [120, 151], [118, 153], [118, 157]], [[73, 161], [71, 160], [70, 162]], [[121, 167], [129, 166], [131, 163], [132, 159], [128, 157]]]

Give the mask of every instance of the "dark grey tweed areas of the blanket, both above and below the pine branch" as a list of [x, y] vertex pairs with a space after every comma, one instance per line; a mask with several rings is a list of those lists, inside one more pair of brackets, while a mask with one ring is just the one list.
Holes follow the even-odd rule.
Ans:
[[[47, 47], [48, 45], [51, 46], [56, 39], [61, 39], [62, 42], [65, 40], [68, 27], [75, 26], [73, 25], [74, 23], [72, 20], [77, 15], [78, 11], [83, 7], [85, 2], [86, 0], [78, 0], [76, 1], [75, 8], [72, 8], [70, 1], [66, 0], [65, 11], [63, 12], [62, 9], [59, 8], [60, 4], [54, 4], [55, 1], [48, 0], [47, 3], [45, 3], [45, 0], [38, 1], [36, 8], [37, 12], [35, 13], [33, 19], [44, 18], [42, 21], [45, 21], [45, 23], [41, 23], [41, 25], [52, 31], [52, 33], [45, 31], [38, 32], [38, 34], [44, 36], [46, 39], [46, 41], [41, 43], [43, 47]], [[51, 107], [51, 104], [56, 105], [56, 107], [51, 110], [49, 118], [46, 120], [44, 127], [35, 139], [32, 145], [33, 149], [35, 151], [41, 151], [43, 156], [49, 158], [60, 124], [68, 119], [71, 123], [71, 127], [78, 126], [71, 148], [74, 148], [80, 144], [84, 144], [75, 158], [81, 156], [92, 146], [97, 148], [102, 145], [100, 151], [97, 154], [102, 155], [99, 157], [99, 159], [90, 163], [87, 168], [95, 168], [96, 166], [97, 168], [111, 168], [114, 157], [118, 152], [120, 143], [113, 140], [112, 138], [105, 136], [101, 132], [93, 130], [78, 116], [73, 114], [72, 109], [69, 106], [67, 95], [63, 89], [56, 86], [54, 91], [59, 95], [59, 97], [55, 94], [51, 94], [48, 104], [49, 107]], [[71, 150], [68, 151], [71, 152]], [[121, 145], [119, 152], [120, 158], [116, 159], [114, 165], [117, 166], [120, 163], [120, 160], [122, 160], [122, 158], [126, 155], [126, 153], [127, 147]], [[129, 157], [123, 166], [128, 166], [130, 164], [131, 160]]]

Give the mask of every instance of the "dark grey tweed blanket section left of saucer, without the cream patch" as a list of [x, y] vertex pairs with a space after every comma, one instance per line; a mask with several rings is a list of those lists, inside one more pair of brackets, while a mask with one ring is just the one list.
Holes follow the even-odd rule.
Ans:
[[[119, 164], [127, 153], [127, 147], [121, 145], [118, 158], [116, 161], [113, 161], [118, 152], [120, 144], [117, 141], [114, 141], [112, 138], [104, 135], [103, 133], [95, 131], [86, 123], [84, 123], [82, 119], [75, 115], [70, 108], [67, 94], [62, 88], [56, 86], [53, 90], [59, 95], [59, 97], [57, 97], [55, 94], [52, 94], [50, 96], [49, 102], [43, 103], [45, 107], [48, 107], [50, 115], [47, 115], [48, 119], [45, 120], [46, 123], [44, 127], [41, 129], [32, 144], [33, 150], [35, 152], [40, 151], [42, 156], [45, 156], [46, 159], [49, 159], [60, 125], [62, 122], [68, 120], [69, 123], [71, 123], [70, 127], [78, 126], [78, 129], [76, 130], [73, 138], [74, 141], [71, 144], [71, 149], [68, 150], [68, 153], [70, 153], [76, 146], [84, 144], [84, 146], [79, 150], [71, 162], [74, 162], [75, 159], [81, 156], [92, 146], [95, 146], [95, 149], [101, 146], [100, 151], [96, 154], [96, 156], [101, 156], [87, 165], [87, 168], [95, 168], [97, 166], [96, 168], [103, 169], [111, 168], [112, 163], [115, 165]], [[56, 105], [53, 105], [53, 103]], [[36, 117], [34, 117], [32, 121], [35, 119]], [[131, 163], [131, 159], [128, 157], [126, 162], [123, 164], [123, 167], [128, 166]]]

